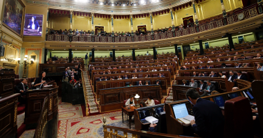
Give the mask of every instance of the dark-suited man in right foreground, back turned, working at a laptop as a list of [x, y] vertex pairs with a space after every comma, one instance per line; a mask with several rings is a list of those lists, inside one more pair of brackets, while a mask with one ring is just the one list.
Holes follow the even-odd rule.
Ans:
[[224, 137], [224, 116], [216, 103], [201, 99], [194, 88], [186, 92], [186, 97], [194, 106], [194, 120], [191, 120], [192, 130], [199, 137], [221, 138]]

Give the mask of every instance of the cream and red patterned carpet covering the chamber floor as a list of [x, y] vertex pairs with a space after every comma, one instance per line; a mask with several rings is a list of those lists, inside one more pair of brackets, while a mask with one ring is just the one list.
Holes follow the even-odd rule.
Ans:
[[[23, 114], [19, 115], [19, 120], [23, 120]], [[121, 116], [121, 111], [109, 112], [100, 115], [83, 117], [82, 108], [80, 105], [71, 105], [71, 103], [59, 102], [59, 122], [57, 137], [59, 138], [98, 138], [103, 137], [102, 120], [106, 117], [107, 125], [129, 128], [127, 119], [124, 123]], [[21, 121], [22, 122], [22, 121]], [[21, 124], [20, 122], [20, 124]], [[131, 123], [131, 129], [134, 129], [134, 123]], [[34, 136], [35, 130], [26, 130], [20, 138], [31, 138]], [[118, 132], [123, 135], [123, 132]], [[129, 135], [131, 136], [131, 135]]]

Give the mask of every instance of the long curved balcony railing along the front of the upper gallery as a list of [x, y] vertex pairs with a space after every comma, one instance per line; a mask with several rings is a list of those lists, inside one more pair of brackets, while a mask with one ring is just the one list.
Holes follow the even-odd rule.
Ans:
[[[262, 14], [263, 6], [258, 6], [257, 4], [243, 8], [242, 10], [236, 11], [234, 14], [226, 17], [225, 19], [219, 19], [217, 21], [212, 21], [210, 23], [204, 23], [199, 26], [194, 26], [192, 28], [186, 28], [183, 30], [165, 32], [161, 34], [153, 35], [143, 35], [136, 37], [91, 37], [91, 36], [73, 36], [69, 38], [68, 35], [63, 34], [46, 34], [46, 41], [79, 41], [79, 42], [98, 42], [98, 43], [125, 43], [125, 42], [139, 42], [139, 41], [153, 41], [158, 39], [168, 39], [172, 37], [181, 37], [188, 34], [194, 34], [198, 32], [203, 32], [206, 30], [212, 30], [214, 28], [219, 28], [221, 26], [226, 26], [244, 19], [248, 19], [256, 16], [257, 14]], [[244, 14], [243, 19], [238, 19], [238, 14]]]

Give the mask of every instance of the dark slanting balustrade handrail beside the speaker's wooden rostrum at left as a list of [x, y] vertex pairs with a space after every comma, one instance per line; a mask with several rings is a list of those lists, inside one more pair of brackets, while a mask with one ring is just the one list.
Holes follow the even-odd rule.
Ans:
[[35, 135], [34, 138], [41, 138], [44, 128], [46, 126], [46, 123], [48, 122], [48, 97], [45, 97], [42, 111], [39, 115], [39, 119], [37, 121], [37, 128], [35, 129]]

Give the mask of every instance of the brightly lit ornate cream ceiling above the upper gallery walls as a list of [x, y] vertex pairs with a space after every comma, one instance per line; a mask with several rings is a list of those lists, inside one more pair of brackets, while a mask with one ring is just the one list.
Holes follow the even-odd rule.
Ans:
[[190, 2], [191, 0], [26, 0], [28, 4], [46, 5], [48, 8], [101, 14], [143, 14]]

